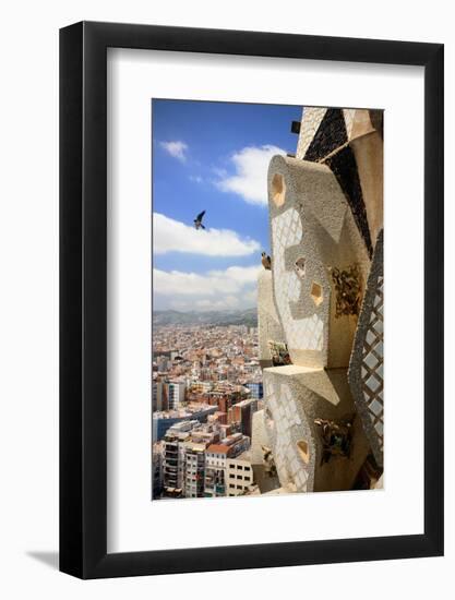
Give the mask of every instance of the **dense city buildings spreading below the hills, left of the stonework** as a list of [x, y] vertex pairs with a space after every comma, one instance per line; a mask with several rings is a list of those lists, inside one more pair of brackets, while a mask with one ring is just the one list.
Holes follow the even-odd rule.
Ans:
[[259, 494], [265, 476], [278, 488], [251, 444], [263, 409], [258, 327], [159, 326], [153, 352], [153, 497]]

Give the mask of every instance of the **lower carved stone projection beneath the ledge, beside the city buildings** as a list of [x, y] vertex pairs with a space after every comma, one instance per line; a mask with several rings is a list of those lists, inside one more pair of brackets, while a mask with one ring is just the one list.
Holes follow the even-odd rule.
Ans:
[[[346, 369], [265, 369], [264, 388], [265, 423], [282, 487], [296, 492], [349, 490], [369, 445], [355, 416]], [[337, 443], [342, 449], [346, 444], [338, 439], [331, 444], [318, 424], [347, 427], [346, 415], [350, 416], [349, 453], [338, 452]]]

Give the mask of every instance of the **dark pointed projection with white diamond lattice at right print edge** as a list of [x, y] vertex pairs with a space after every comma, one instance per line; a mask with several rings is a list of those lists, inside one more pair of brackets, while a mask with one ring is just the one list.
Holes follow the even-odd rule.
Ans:
[[352, 355], [349, 385], [378, 465], [384, 446], [383, 232], [378, 236]]

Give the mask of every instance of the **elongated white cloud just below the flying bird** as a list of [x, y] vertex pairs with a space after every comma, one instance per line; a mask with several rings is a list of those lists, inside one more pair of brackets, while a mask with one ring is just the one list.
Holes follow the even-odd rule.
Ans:
[[187, 252], [206, 256], [246, 256], [261, 245], [230, 229], [195, 229], [160, 213], [153, 214], [153, 250], [156, 254]]

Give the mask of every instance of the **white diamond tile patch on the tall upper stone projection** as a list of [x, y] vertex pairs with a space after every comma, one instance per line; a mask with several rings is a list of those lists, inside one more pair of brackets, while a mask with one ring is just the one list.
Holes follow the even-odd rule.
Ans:
[[322, 350], [323, 321], [314, 313], [311, 316], [295, 320], [290, 302], [300, 298], [300, 279], [297, 273], [286, 271], [285, 251], [302, 239], [300, 215], [295, 208], [272, 219], [273, 237], [273, 275], [275, 281], [275, 300], [282, 317], [288, 347], [301, 350]]

